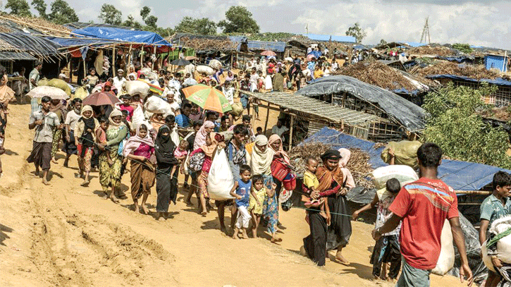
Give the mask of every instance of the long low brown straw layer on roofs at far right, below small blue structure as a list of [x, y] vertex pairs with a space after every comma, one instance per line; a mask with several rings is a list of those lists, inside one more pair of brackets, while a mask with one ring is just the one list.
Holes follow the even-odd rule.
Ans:
[[495, 79], [495, 78], [506, 78], [511, 80], [507, 75], [501, 75], [496, 71], [486, 70], [484, 66], [473, 66], [473, 65], [458, 65], [448, 61], [441, 61], [433, 66], [426, 68], [420, 68], [417, 70], [417, 75], [426, 77], [428, 75], [460, 75], [464, 77], [473, 78], [476, 80], [480, 79]]

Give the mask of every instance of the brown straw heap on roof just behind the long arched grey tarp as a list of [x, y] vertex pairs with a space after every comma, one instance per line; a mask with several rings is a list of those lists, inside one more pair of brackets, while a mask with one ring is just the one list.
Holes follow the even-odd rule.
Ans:
[[398, 90], [401, 88], [409, 91], [417, 90], [417, 87], [405, 78], [402, 73], [379, 61], [370, 63], [359, 62], [354, 65], [340, 67], [337, 71], [332, 72], [332, 75], [349, 75], [362, 82], [383, 87], [386, 90]]

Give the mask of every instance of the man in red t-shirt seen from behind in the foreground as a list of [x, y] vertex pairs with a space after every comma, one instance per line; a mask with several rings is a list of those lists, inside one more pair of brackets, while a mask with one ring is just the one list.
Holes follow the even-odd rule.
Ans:
[[378, 240], [382, 234], [393, 231], [402, 220], [400, 249], [403, 264], [397, 286], [429, 286], [429, 274], [440, 255], [443, 224], [448, 219], [460, 252], [460, 279], [463, 282], [466, 275], [468, 286], [472, 286], [456, 193], [437, 177], [442, 149], [426, 142], [417, 150], [417, 158], [421, 178], [401, 188], [388, 208], [393, 215], [373, 231], [373, 238]]

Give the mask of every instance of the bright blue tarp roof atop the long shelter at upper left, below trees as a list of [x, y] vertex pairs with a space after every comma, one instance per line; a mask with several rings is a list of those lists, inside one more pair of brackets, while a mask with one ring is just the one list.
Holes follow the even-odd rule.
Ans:
[[171, 46], [163, 37], [155, 32], [128, 30], [109, 27], [87, 27], [73, 30], [74, 34], [84, 37], [110, 39], [125, 42], [135, 42], [140, 44], [156, 44]]

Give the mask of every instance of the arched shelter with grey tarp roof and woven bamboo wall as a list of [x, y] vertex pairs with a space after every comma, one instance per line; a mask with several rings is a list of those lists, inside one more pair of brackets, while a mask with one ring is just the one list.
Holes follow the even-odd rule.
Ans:
[[406, 132], [417, 133], [426, 126], [426, 112], [420, 106], [393, 92], [347, 75], [320, 78], [295, 94], [314, 97], [385, 119], [369, 127], [370, 140], [400, 139], [405, 137]]

